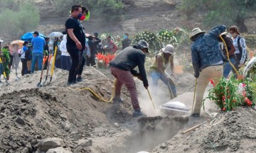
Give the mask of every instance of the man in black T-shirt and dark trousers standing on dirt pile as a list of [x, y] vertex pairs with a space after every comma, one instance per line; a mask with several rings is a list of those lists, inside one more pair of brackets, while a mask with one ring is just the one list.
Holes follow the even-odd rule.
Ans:
[[80, 5], [72, 6], [71, 14], [65, 22], [67, 31], [67, 50], [70, 54], [72, 64], [68, 75], [68, 84], [76, 82], [76, 74], [82, 60], [82, 51], [85, 50], [85, 31], [78, 21], [82, 16], [82, 7]]

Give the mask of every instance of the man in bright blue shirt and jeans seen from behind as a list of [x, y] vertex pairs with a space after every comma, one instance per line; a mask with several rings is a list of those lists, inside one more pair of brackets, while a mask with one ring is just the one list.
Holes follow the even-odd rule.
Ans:
[[32, 46], [33, 46], [33, 52], [32, 52], [32, 65], [31, 65], [31, 74], [35, 71], [35, 64], [37, 62], [38, 69], [42, 69], [43, 64], [43, 46], [46, 45], [46, 41], [44, 38], [39, 36], [39, 33], [35, 31], [33, 33], [33, 38], [31, 40]]

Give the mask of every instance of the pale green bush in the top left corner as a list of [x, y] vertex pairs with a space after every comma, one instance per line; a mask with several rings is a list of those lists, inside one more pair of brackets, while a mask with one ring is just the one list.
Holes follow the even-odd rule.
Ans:
[[[18, 6], [18, 4], [16, 4]], [[23, 2], [18, 9], [5, 8], [0, 12], [0, 33], [17, 37], [38, 26], [39, 12], [33, 3]]]

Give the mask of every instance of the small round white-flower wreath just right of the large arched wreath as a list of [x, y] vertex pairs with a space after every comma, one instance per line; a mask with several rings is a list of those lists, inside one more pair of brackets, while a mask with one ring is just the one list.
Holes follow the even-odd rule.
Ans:
[[161, 41], [169, 43], [171, 45], [176, 45], [178, 42], [174, 34], [170, 30], [161, 30], [159, 31], [159, 38]]

